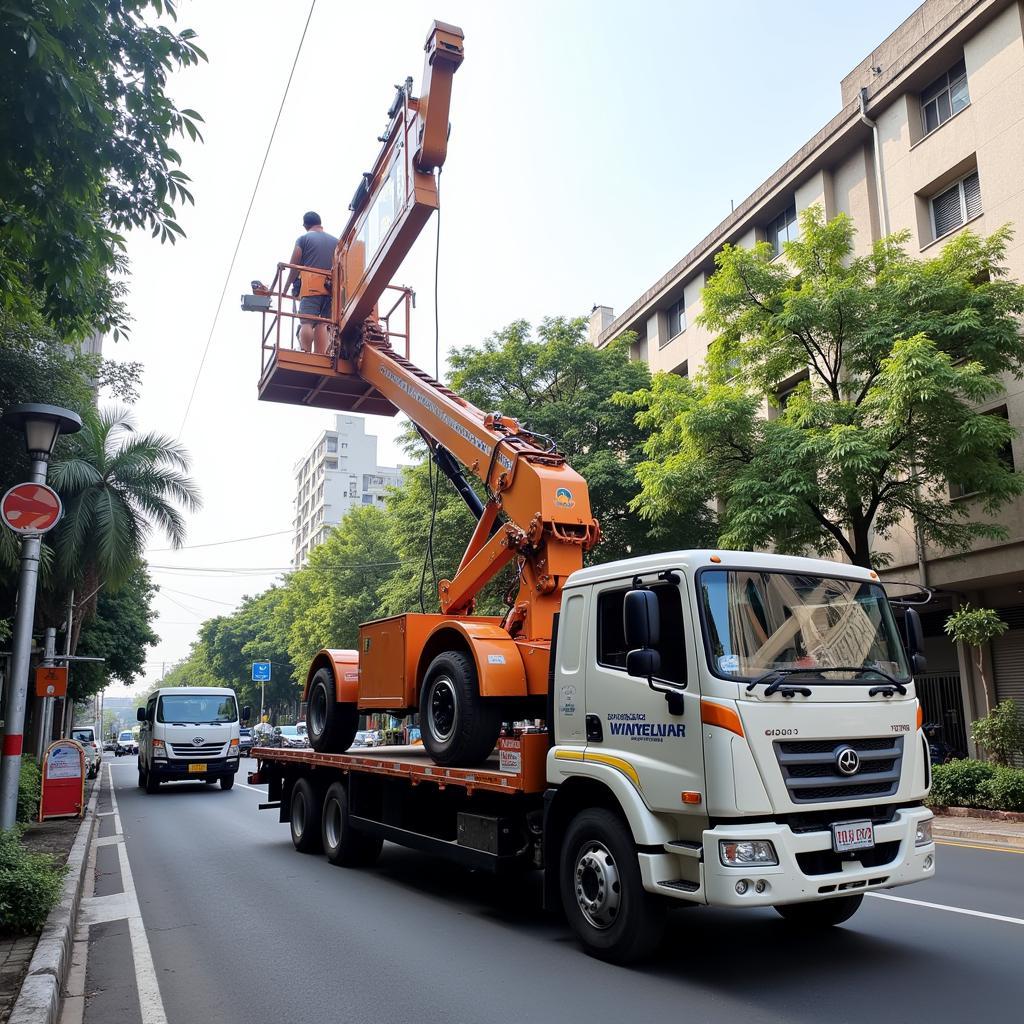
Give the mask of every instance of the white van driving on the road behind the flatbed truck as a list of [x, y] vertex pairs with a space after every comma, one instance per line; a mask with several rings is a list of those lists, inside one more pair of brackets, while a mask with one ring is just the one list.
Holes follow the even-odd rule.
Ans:
[[[167, 686], [139, 708], [138, 784], [156, 793], [161, 782], [220, 780], [234, 785], [239, 770], [239, 702], [234, 690]], [[242, 709], [242, 721], [249, 709]]]

